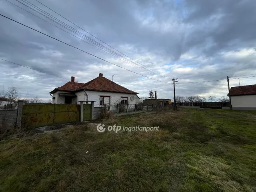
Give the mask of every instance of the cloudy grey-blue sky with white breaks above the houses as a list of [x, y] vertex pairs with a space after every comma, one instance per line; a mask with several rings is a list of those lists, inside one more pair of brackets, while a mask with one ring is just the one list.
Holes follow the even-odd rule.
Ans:
[[256, 4], [252, 0], [39, 0], [77, 26], [36, 0], [8, 1], [24, 10], [0, 0], [0, 14], [122, 67], [0, 16], [0, 58], [35, 69], [0, 60], [0, 86], [6, 90], [13, 84], [21, 97], [47, 100], [49, 92], [70, 76], [88, 82], [98, 73], [108, 79], [114, 74], [114, 82], [139, 96], [147, 96], [150, 89], [157, 91], [158, 98], [173, 98], [172, 78], [178, 78], [176, 94], [181, 96], [226, 95], [227, 76], [233, 77], [231, 86], [239, 85], [238, 78], [241, 85], [256, 84], [256, 77], [245, 78], [256, 76]]

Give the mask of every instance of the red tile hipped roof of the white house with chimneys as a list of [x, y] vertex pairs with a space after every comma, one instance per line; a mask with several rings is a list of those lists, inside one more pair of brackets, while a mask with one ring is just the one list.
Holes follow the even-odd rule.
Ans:
[[129, 93], [129, 94], [138, 94], [137, 92], [126, 89], [123, 86], [108, 80], [105, 77], [97, 77], [87, 83], [76, 83], [76, 82], [67, 82], [66, 84], [55, 88], [50, 93], [56, 91], [78, 91], [78, 90], [93, 90], [93, 91], [105, 91], [105, 92], [117, 92], [117, 93]]

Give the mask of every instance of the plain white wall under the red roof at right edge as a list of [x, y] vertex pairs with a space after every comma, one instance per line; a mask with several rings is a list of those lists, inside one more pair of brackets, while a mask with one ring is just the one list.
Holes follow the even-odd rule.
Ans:
[[256, 95], [231, 96], [233, 108], [256, 108]]

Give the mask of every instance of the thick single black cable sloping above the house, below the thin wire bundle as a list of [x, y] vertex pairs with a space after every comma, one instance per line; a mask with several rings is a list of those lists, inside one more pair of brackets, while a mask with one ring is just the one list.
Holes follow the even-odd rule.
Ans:
[[[16, 21], [16, 20], [13, 20], [13, 19], [11, 19], [11, 18], [8, 18], [7, 16], [4, 16], [4, 15], [2, 15], [2, 14], [0, 14], [0, 16], [2, 16], [2, 17], [4, 17], [4, 18], [7, 18], [7, 19], [9, 19], [9, 20], [12, 20], [12, 21], [14, 21], [14, 22], [16, 22], [16, 23], [18, 23], [18, 24], [20, 24], [20, 25], [22, 25], [22, 26], [27, 27], [27, 28], [30, 28], [30, 29], [32, 29], [32, 30], [34, 30], [34, 31], [36, 31], [36, 32], [38, 32], [38, 33], [40, 33], [40, 34], [43, 34], [43, 35], [45, 35], [45, 36], [48, 36], [48, 37], [50, 37], [50, 38], [52, 38], [52, 39], [54, 39], [54, 40], [57, 40], [57, 41], [59, 41], [59, 42], [62, 42], [62, 43], [64, 43], [64, 44], [66, 44], [66, 45], [68, 45], [68, 46], [70, 46], [70, 47], [73, 47], [73, 48], [75, 48], [75, 49], [77, 49], [77, 50], [80, 50], [80, 51], [82, 51], [82, 52], [84, 52], [84, 53], [86, 53], [86, 54], [89, 54], [89, 55], [91, 55], [91, 56], [94, 56], [94, 57], [96, 57], [96, 58], [98, 58], [98, 59], [100, 59], [100, 60], [103, 60], [103, 61], [105, 61], [105, 62], [108, 62], [108, 63], [110, 63], [110, 64], [112, 64], [112, 65], [118, 66], [118, 65], [116, 65], [116, 64], [114, 64], [114, 63], [112, 63], [112, 62], [109, 62], [109, 61], [107, 61], [107, 60], [104, 60], [104, 59], [102, 59], [102, 58], [100, 58], [100, 57], [98, 57], [98, 56], [95, 56], [95, 55], [93, 55], [93, 54], [90, 54], [90, 53], [88, 53], [88, 52], [86, 52], [86, 51], [84, 51], [84, 50], [82, 50], [82, 49], [80, 49], [80, 48], [77, 48], [77, 47], [72, 46], [72, 45], [70, 45], [70, 44], [68, 44], [68, 43], [66, 43], [66, 42], [63, 42], [63, 41], [61, 41], [61, 40], [58, 40], [58, 39], [56, 39], [56, 38], [54, 38], [54, 37], [52, 37], [52, 36], [49, 36], [49, 35], [47, 35], [47, 34], [44, 34], [44, 33], [40, 32], [40, 31], [38, 31], [38, 30], [36, 30], [36, 29], [34, 29], [34, 28], [31, 28], [31, 27], [29, 27], [29, 26], [26, 26], [25, 24], [22, 24], [22, 23], [20, 23], [20, 22], [18, 22], [18, 21]], [[129, 69], [126, 69], [126, 68], [124, 68], [124, 67], [121, 67], [121, 66], [118, 66], [118, 67], [120, 67], [120, 68], [122, 68], [122, 69], [125, 69], [125, 70], [128, 70], [128, 71], [130, 71], [130, 72], [133, 72], [133, 73], [135, 73], [135, 74], [138, 74], [138, 75], [140, 75], [140, 76], [143, 76], [143, 77], [146, 77], [146, 78], [155, 80], [155, 81], [163, 82], [163, 81], [156, 80], [156, 79], [153, 79], [153, 78], [144, 76], [144, 75], [142, 75], [142, 74], [136, 73], [136, 72], [134, 72], [134, 71], [132, 71], [132, 70], [129, 70]], [[168, 82], [164, 82], [164, 83], [168, 83]]]

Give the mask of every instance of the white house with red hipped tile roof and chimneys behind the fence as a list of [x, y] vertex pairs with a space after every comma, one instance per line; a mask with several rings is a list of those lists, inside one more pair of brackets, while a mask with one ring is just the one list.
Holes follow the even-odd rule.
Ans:
[[63, 86], [50, 92], [52, 104], [80, 104], [79, 101], [95, 101], [94, 106], [114, 106], [116, 104], [138, 104], [138, 93], [99, 76], [87, 83], [75, 82], [75, 77]]

